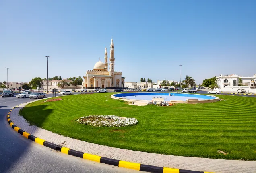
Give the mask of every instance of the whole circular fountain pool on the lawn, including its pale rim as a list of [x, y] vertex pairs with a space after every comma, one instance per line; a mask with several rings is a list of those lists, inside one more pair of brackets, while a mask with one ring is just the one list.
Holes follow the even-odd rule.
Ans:
[[218, 97], [213, 95], [199, 95], [186, 93], [119, 93], [111, 96], [113, 99], [125, 101], [147, 103], [148, 101], [161, 100], [171, 103], [208, 103], [218, 101]]

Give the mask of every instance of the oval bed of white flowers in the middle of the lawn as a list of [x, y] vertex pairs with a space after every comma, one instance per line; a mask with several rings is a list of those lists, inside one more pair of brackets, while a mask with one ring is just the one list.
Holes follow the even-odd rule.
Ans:
[[89, 115], [79, 118], [78, 123], [91, 126], [124, 127], [138, 123], [136, 118], [118, 117], [115, 115]]

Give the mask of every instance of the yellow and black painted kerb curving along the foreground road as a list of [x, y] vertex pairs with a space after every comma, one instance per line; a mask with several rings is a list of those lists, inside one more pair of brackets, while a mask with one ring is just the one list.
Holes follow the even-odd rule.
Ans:
[[76, 151], [76, 150], [73, 150], [70, 148], [62, 147], [60, 145], [57, 145], [57, 144], [45, 141], [43, 139], [40, 139], [38, 137], [35, 137], [35, 136], [23, 131], [16, 125], [14, 125], [14, 123], [12, 123], [12, 121], [10, 120], [10, 113], [13, 109], [11, 109], [10, 112], [7, 114], [7, 121], [10, 124], [10, 127], [12, 127], [12, 129], [17, 131], [23, 137], [30, 139], [31, 141], [34, 141], [40, 145], [49, 147], [51, 149], [60, 151], [62, 153], [68, 154], [68, 155], [80, 157], [82, 159], [88, 159], [88, 160], [99, 162], [99, 163], [105, 163], [108, 165], [114, 165], [114, 166], [124, 167], [124, 168], [128, 168], [128, 169], [135, 169], [138, 171], [147, 171], [147, 172], [151, 172], [151, 173], [210, 173], [210, 172], [203, 172], [203, 171], [190, 171], [190, 170], [185, 170], [185, 169], [157, 167], [157, 166], [151, 166], [151, 165], [144, 165], [144, 164], [140, 164], [140, 163], [132, 163], [132, 162], [128, 162], [128, 161], [121, 161], [121, 160], [117, 160], [117, 159], [110, 159], [107, 157], [101, 157], [101, 156], [97, 156], [97, 155], [83, 153], [81, 151]]

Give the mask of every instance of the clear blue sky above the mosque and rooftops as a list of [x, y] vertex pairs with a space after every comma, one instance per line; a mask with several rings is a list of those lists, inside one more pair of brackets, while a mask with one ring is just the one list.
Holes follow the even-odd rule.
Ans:
[[84, 76], [114, 40], [116, 71], [198, 84], [256, 73], [256, 0], [1, 0], [0, 81]]

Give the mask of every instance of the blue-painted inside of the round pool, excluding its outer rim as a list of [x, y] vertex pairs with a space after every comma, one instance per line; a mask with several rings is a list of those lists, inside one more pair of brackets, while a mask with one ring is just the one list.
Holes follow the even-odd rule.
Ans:
[[209, 100], [215, 99], [214, 96], [208, 95], [197, 95], [197, 94], [183, 94], [183, 93], [120, 93], [115, 94], [116, 97], [123, 97], [126, 99], [135, 99], [135, 100], [149, 100], [151, 101], [153, 97], [164, 97], [165, 101], [170, 100], [182, 100], [186, 101], [187, 99], [198, 99], [198, 100]]

